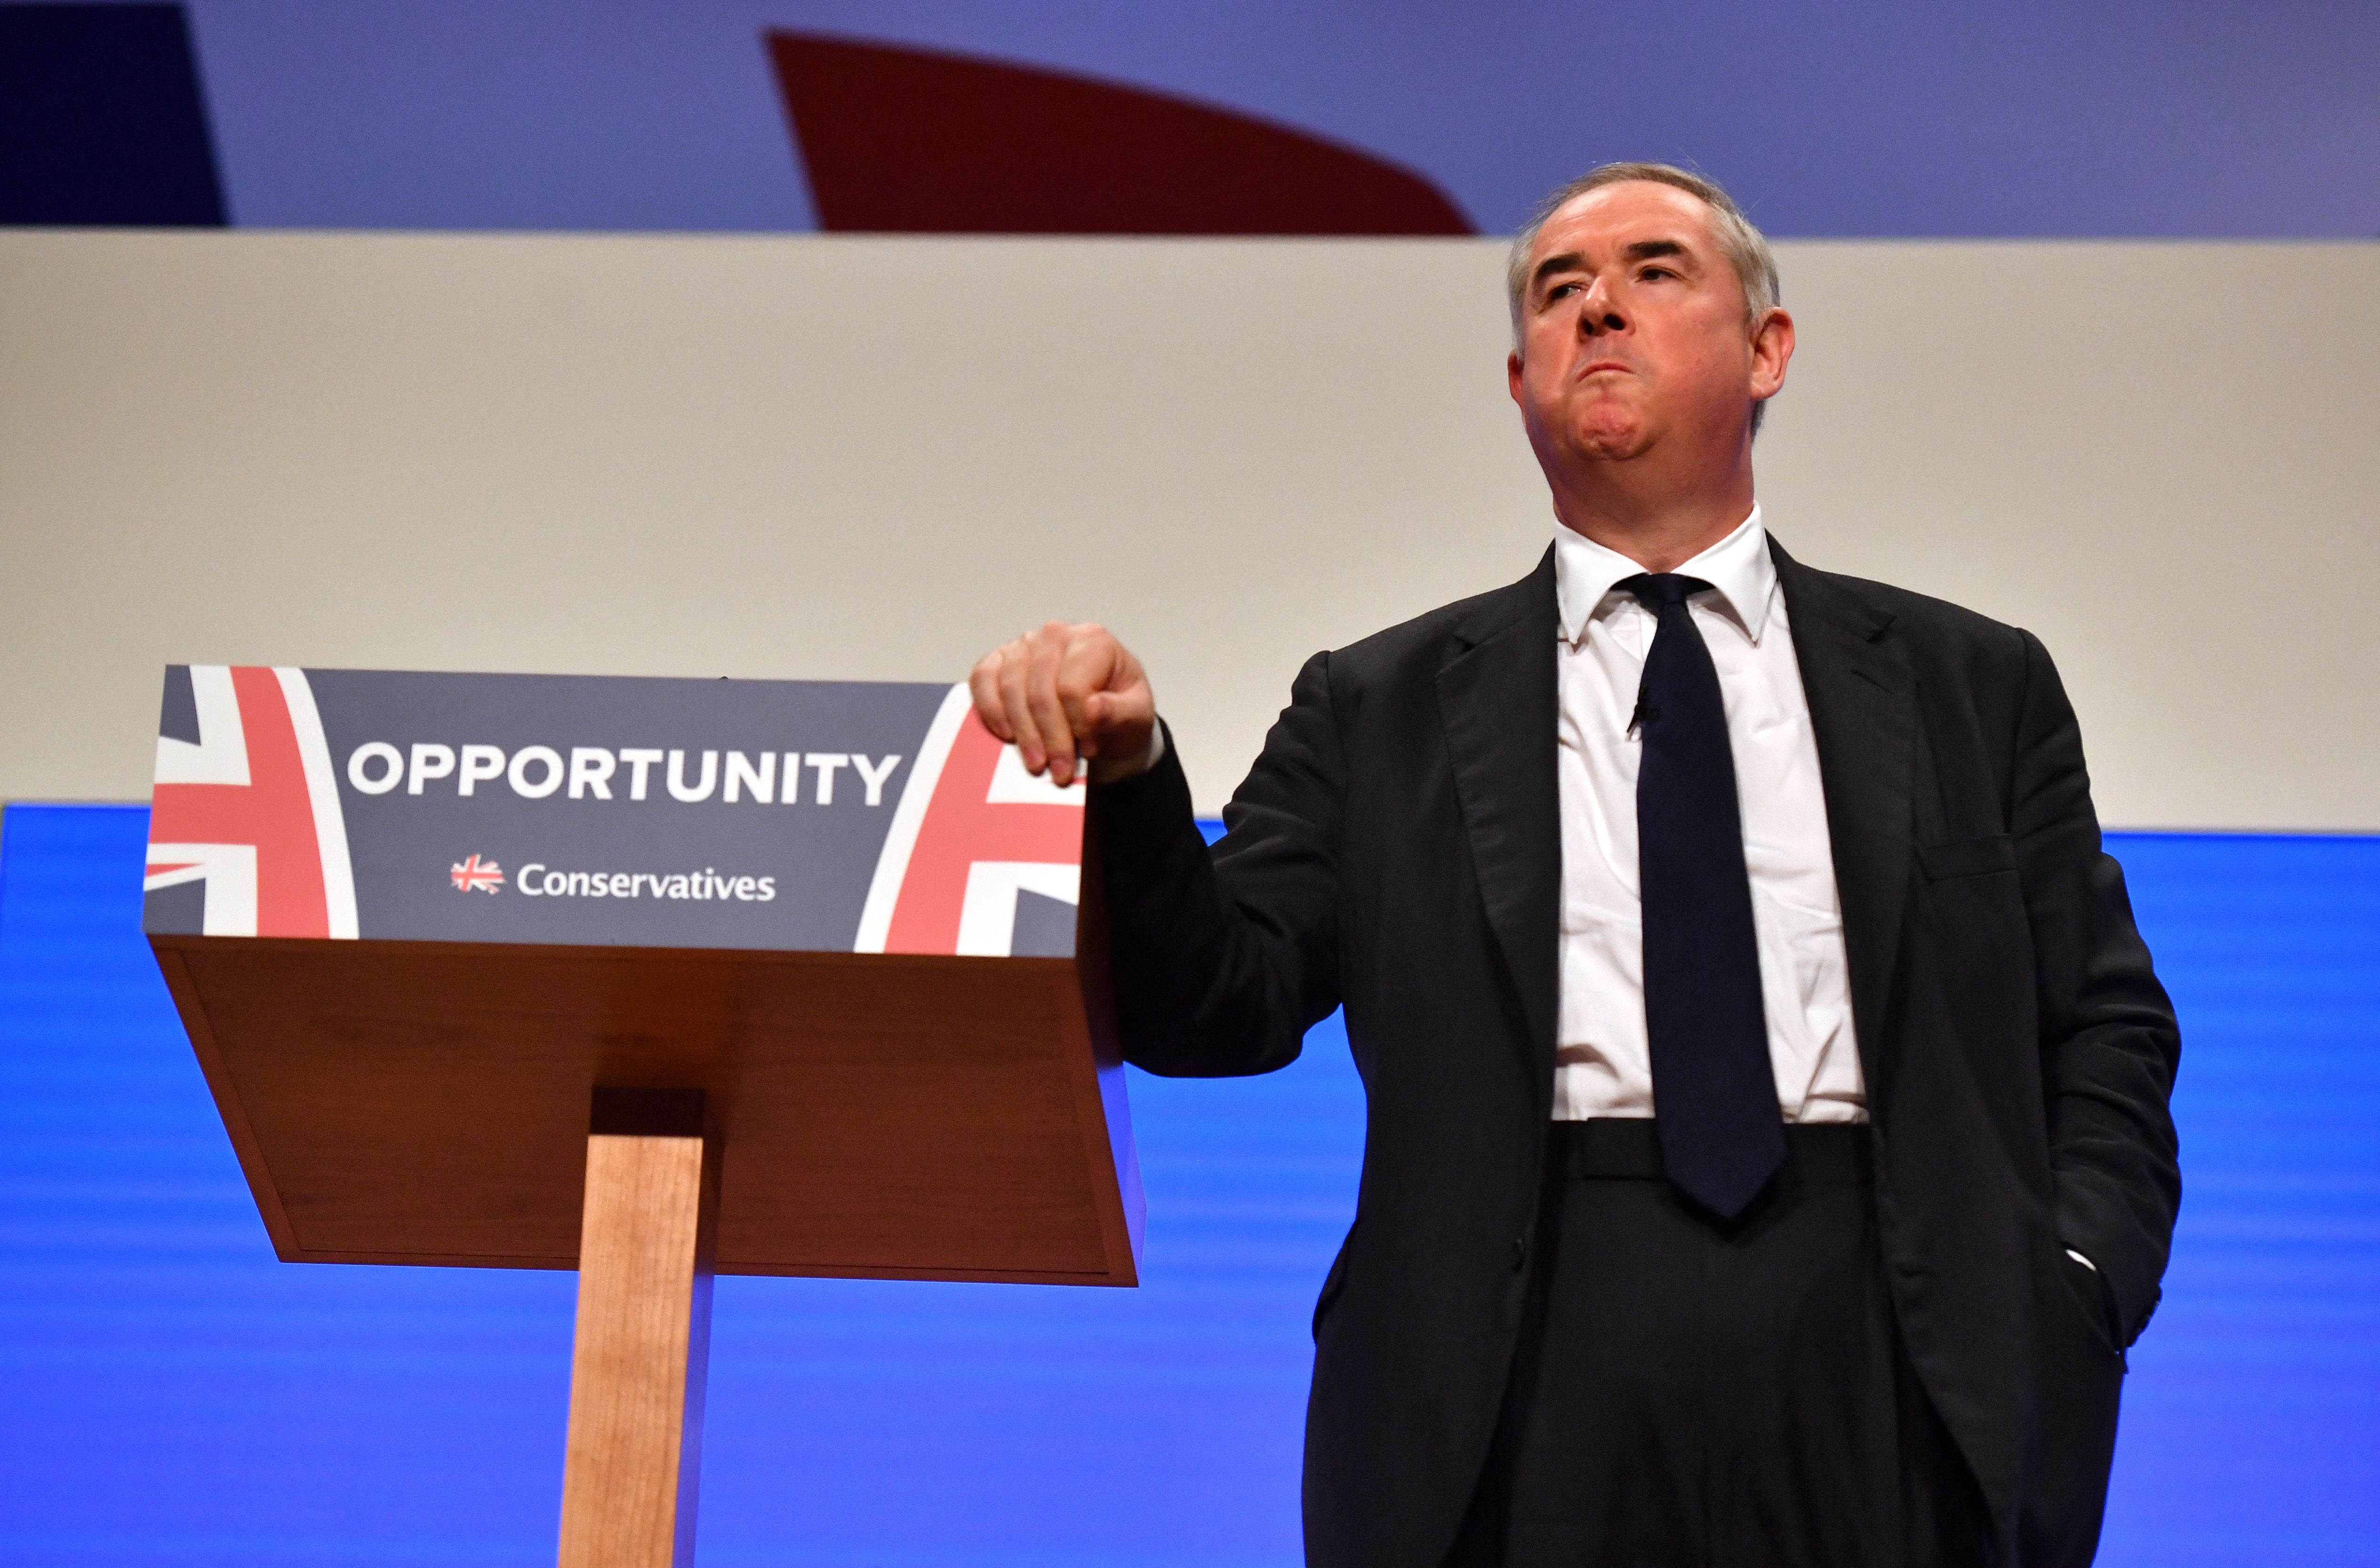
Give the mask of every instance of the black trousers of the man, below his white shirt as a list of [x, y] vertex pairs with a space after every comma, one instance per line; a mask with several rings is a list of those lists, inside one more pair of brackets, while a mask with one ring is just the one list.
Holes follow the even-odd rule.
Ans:
[[1892, 1325], [1868, 1130], [1795, 1125], [1733, 1223], [1649, 1121], [1554, 1123], [1497, 1440], [1447, 1568], [1968, 1568], [1973, 1475]]

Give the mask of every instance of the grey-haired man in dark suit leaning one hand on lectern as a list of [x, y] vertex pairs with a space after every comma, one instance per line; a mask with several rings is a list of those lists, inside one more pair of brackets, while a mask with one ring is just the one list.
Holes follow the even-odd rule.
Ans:
[[1109, 633], [973, 676], [1092, 780], [1126, 1059], [1345, 1006], [1307, 1556], [2087, 1563], [2180, 1045], [2056, 671], [1768, 540], [1792, 319], [1726, 193], [1576, 181], [1511, 307], [1554, 547], [1316, 654], [1214, 852]]

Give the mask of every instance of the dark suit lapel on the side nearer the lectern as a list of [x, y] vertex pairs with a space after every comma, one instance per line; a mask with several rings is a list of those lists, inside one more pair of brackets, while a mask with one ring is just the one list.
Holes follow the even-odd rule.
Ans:
[[1554, 1083], [1561, 964], [1561, 788], [1554, 776], [1554, 552], [1485, 595], [1447, 638], [1438, 716], [1471, 864], [1535, 1054]]

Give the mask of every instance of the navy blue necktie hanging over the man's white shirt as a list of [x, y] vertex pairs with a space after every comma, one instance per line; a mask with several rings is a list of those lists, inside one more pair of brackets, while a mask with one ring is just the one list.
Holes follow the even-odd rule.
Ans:
[[1785, 1125], [1768, 1066], [1728, 711], [1685, 607], [1709, 583], [1664, 571], [1618, 588], [1661, 621], [1635, 711], [1645, 1033], [1661, 1168], [1690, 1199], [1735, 1218], [1785, 1159]]

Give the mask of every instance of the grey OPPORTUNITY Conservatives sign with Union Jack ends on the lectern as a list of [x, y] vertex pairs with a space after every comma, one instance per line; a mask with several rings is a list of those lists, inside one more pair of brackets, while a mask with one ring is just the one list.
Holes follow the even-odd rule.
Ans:
[[964, 685], [171, 666], [150, 935], [1069, 957]]

